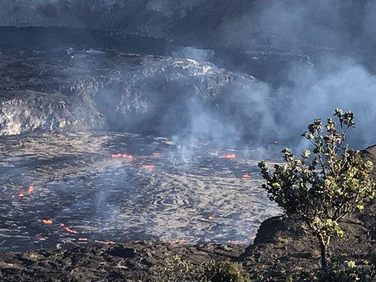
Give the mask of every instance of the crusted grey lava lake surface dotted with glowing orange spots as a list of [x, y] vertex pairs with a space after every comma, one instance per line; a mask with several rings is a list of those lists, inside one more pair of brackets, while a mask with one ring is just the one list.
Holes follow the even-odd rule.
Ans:
[[[95, 240], [249, 243], [279, 213], [255, 161], [274, 149], [177, 144], [104, 132], [1, 137], [0, 252]], [[125, 153], [133, 159], [117, 157]]]

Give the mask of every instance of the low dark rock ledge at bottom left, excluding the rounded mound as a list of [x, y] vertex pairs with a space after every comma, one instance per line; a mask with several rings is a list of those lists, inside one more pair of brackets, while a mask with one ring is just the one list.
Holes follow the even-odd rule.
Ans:
[[151, 266], [179, 255], [193, 262], [236, 259], [240, 245], [124, 243], [24, 255], [0, 255], [0, 280], [18, 281], [138, 281]]

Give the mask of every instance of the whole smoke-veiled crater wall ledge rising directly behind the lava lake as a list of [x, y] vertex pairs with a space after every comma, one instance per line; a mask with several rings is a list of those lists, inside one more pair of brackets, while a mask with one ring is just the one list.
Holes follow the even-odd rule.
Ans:
[[1, 135], [102, 129], [241, 134], [248, 123], [255, 130], [260, 125], [258, 100], [268, 94], [249, 75], [179, 57], [94, 49], [1, 56]]

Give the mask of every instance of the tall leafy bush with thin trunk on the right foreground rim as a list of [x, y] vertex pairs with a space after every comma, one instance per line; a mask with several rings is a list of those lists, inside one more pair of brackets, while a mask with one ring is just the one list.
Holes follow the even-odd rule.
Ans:
[[[259, 166], [267, 180], [262, 185], [271, 200], [289, 216], [297, 217], [305, 231], [320, 243], [322, 268], [327, 267], [327, 249], [333, 236], [344, 236], [339, 221], [376, 195], [375, 182], [370, 177], [373, 164], [364, 160], [359, 151], [344, 145], [346, 133], [354, 127], [351, 112], [336, 109], [327, 124], [316, 119], [303, 134], [313, 145], [313, 155], [305, 150], [296, 159], [291, 149], [282, 152], [286, 163], [269, 172], [265, 161]], [[324, 131], [326, 131], [324, 135]]]

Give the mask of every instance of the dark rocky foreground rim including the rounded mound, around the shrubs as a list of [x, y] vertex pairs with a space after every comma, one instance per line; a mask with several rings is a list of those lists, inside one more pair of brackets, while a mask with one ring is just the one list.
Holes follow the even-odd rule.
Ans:
[[[376, 159], [376, 147], [365, 151]], [[376, 169], [374, 171], [376, 176]], [[341, 223], [346, 238], [334, 242], [335, 259], [375, 257], [375, 202], [365, 213]], [[264, 221], [255, 243], [244, 245], [181, 245], [123, 243], [28, 254], [0, 255], [1, 281], [138, 281], [166, 257], [178, 255], [197, 264], [210, 259], [241, 261], [252, 281], [313, 281], [320, 252], [315, 238], [288, 219]], [[291, 280], [292, 279], [292, 280]]]

